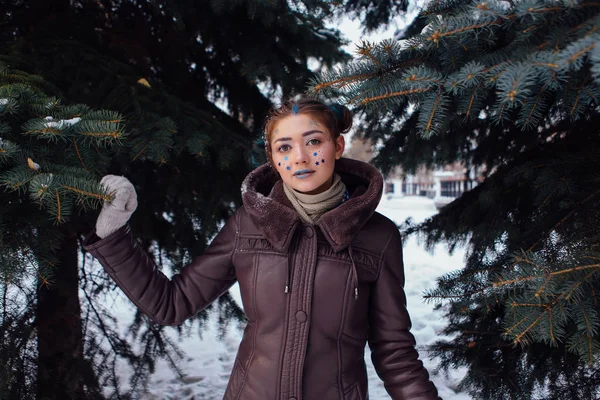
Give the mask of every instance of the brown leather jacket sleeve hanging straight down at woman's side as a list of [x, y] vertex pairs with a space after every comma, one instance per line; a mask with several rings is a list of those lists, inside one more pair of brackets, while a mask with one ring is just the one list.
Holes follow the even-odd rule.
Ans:
[[394, 400], [440, 399], [419, 360], [415, 338], [410, 333], [402, 240], [398, 229], [393, 229], [385, 246], [370, 302], [368, 338], [371, 358], [389, 395]]

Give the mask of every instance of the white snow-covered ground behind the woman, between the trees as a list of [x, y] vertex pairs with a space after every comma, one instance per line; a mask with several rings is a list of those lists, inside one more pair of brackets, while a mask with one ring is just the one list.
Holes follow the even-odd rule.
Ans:
[[[422, 221], [433, 215], [436, 209], [430, 199], [404, 197], [394, 200], [383, 199], [377, 211], [396, 223], [401, 223], [408, 217], [412, 217], [416, 222]], [[435, 286], [435, 279], [438, 276], [460, 268], [463, 257], [464, 252], [461, 250], [449, 256], [443, 246], [436, 248], [433, 254], [428, 253], [414, 238], [409, 238], [404, 244], [405, 290], [408, 310], [413, 322], [412, 333], [417, 339], [421, 358], [430, 373], [436, 367], [436, 360], [430, 361], [421, 347], [425, 347], [441, 337], [440, 332], [445, 326], [445, 321], [440, 312], [434, 312], [433, 304], [423, 302], [423, 292]], [[239, 301], [240, 295], [237, 286], [232, 289], [232, 295]], [[120, 296], [113, 304], [115, 314], [123, 322], [122, 326], [126, 326], [127, 322], [131, 320], [133, 306], [124, 296]], [[166, 362], [160, 361], [157, 364], [156, 372], [150, 378], [148, 391], [142, 395], [141, 399], [217, 400], [223, 398], [242, 332], [232, 326], [224, 339], [219, 341], [216, 318], [211, 320], [209, 326], [210, 328], [202, 334], [202, 338], [193, 335], [185, 337], [179, 342], [186, 354], [185, 359], [180, 363], [186, 376], [180, 379], [171, 371]], [[173, 332], [173, 337], [177, 337], [175, 332]], [[370, 363], [368, 347], [365, 352], [369, 372], [370, 398], [372, 400], [389, 399], [390, 397]], [[436, 384], [442, 398], [468, 400], [470, 397], [467, 394], [457, 393], [455, 390], [463, 375], [464, 371], [459, 370], [454, 371], [448, 378], [440, 374], [432, 375], [431, 379]]]

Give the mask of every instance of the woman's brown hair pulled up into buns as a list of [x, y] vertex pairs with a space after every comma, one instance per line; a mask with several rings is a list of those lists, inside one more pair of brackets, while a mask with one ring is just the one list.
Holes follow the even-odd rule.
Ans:
[[273, 108], [265, 121], [265, 150], [271, 163], [273, 162], [271, 153], [273, 129], [280, 120], [295, 114], [309, 114], [319, 120], [320, 123], [325, 125], [333, 140], [352, 128], [352, 111], [344, 105], [337, 103], [327, 105], [318, 100], [307, 98], [288, 100], [281, 106]]

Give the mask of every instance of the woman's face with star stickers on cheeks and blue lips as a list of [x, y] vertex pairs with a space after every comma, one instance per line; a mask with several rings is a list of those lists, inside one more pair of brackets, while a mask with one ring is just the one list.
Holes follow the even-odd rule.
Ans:
[[281, 179], [306, 194], [329, 189], [335, 160], [344, 152], [344, 138], [333, 140], [325, 125], [309, 114], [288, 115], [279, 120], [269, 144]]

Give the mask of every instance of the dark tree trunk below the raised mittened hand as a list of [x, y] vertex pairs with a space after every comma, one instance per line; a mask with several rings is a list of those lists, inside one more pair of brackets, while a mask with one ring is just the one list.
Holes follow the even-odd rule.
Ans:
[[38, 399], [84, 399], [77, 236], [66, 226], [51, 285], [37, 292]]

